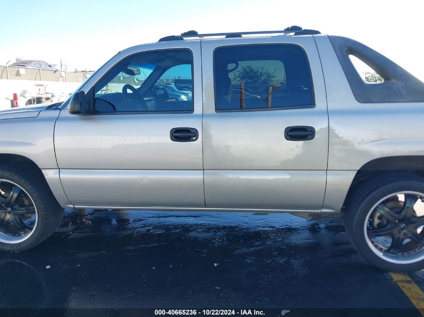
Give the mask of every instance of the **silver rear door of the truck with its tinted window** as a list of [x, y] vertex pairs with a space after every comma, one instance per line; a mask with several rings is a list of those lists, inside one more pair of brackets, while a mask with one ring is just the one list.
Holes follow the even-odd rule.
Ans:
[[314, 38], [201, 42], [206, 207], [321, 211], [329, 127]]

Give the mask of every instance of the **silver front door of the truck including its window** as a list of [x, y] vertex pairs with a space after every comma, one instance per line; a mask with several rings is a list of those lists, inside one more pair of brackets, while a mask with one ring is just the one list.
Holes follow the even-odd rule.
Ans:
[[200, 41], [128, 49], [83, 86], [94, 114], [61, 111], [55, 150], [75, 206], [205, 207], [200, 58]]

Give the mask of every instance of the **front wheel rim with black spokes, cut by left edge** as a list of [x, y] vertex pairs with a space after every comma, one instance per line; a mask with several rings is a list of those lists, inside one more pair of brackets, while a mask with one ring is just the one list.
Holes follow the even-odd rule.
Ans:
[[0, 179], [0, 242], [27, 240], [37, 221], [37, 208], [28, 192], [10, 180]]

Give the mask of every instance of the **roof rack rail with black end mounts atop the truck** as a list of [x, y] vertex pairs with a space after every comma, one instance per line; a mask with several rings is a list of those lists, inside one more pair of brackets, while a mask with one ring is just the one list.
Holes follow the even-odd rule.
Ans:
[[207, 37], [218, 37], [224, 36], [225, 38], [241, 38], [242, 35], [255, 35], [255, 34], [288, 34], [293, 33], [293, 35], [316, 35], [321, 34], [321, 32], [316, 30], [303, 30], [301, 27], [292, 26], [284, 29], [283, 31], [255, 31], [255, 32], [230, 32], [230, 33], [208, 33], [208, 34], [198, 34], [196, 31], [187, 31], [181, 35], [171, 35], [159, 40], [159, 42], [165, 41], [178, 41], [184, 40], [185, 38], [207, 38]]

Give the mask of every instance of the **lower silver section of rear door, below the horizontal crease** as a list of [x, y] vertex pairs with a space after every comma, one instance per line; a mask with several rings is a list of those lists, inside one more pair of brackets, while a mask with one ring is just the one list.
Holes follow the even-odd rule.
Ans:
[[207, 208], [320, 210], [326, 171], [205, 170]]

